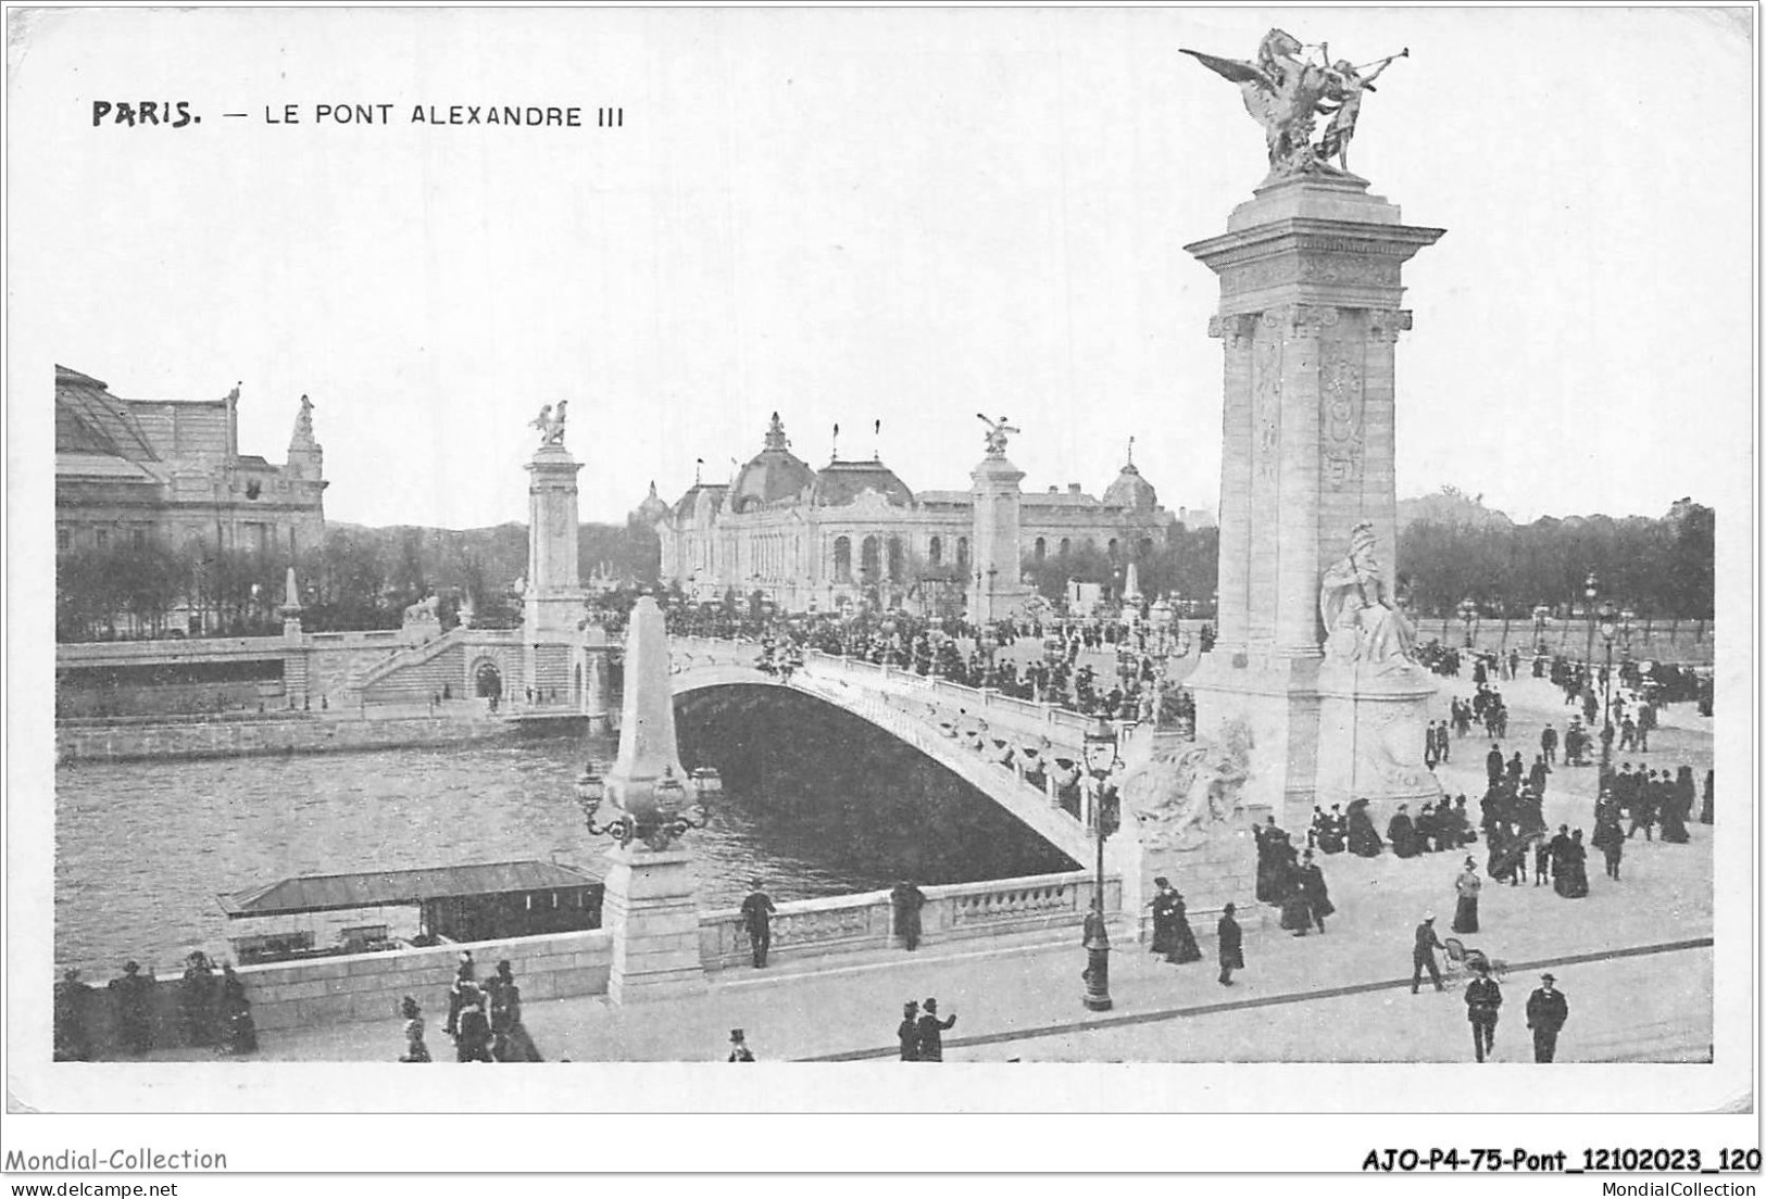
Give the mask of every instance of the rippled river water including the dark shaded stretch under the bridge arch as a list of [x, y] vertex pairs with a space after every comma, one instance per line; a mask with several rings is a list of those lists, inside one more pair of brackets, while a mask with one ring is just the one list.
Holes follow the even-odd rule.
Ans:
[[[765, 694], [766, 699], [754, 699]], [[814, 699], [729, 689], [680, 708], [689, 766], [726, 796], [689, 833], [699, 906], [1074, 869], [985, 796]], [[599, 872], [574, 782], [611, 738], [579, 735], [295, 758], [88, 763], [57, 772], [55, 955], [87, 978], [132, 957], [226, 955], [215, 895], [295, 874], [540, 858]], [[237, 929], [233, 929], [237, 934]]]

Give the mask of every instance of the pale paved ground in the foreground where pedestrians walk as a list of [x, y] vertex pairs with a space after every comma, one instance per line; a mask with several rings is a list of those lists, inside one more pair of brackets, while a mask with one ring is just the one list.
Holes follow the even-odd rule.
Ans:
[[[1469, 680], [1443, 680], [1448, 696], [1469, 694]], [[1535, 680], [1503, 683], [1512, 708], [1505, 752], [1531, 761], [1545, 719], [1565, 728], [1554, 689]], [[1563, 715], [1559, 715], [1563, 712]], [[1690, 717], [1692, 708], [1685, 708]], [[1676, 712], [1679, 715], [1679, 712]], [[1630, 761], [1694, 766], [1704, 779], [1711, 761], [1709, 722], [1667, 728], [1646, 756]], [[1455, 738], [1441, 770], [1450, 793], [1466, 791], [1476, 811], [1489, 740]], [[1531, 749], [1529, 749], [1531, 747]], [[1623, 758], [1621, 758], [1623, 759]], [[1595, 768], [1559, 766], [1547, 788], [1545, 816], [1593, 832]], [[1731, 788], [1727, 795], [1736, 795]], [[1736, 800], [1731, 800], [1734, 803]], [[1718, 809], [1722, 819], [1722, 809]], [[1711, 851], [1724, 825], [1690, 825], [1692, 842], [1626, 846], [1621, 881], [1591, 853], [1586, 899], [1559, 899], [1549, 885], [1519, 888], [1485, 879], [1482, 931], [1464, 938], [1515, 968], [1505, 980], [1498, 1063], [1531, 1061], [1522, 1008], [1551, 968], [1570, 999], [1559, 1061], [1702, 1061], [1711, 1044], [1713, 931]], [[1303, 828], [1291, 828], [1296, 837]], [[1738, 832], [1740, 835], [1740, 832]], [[691, 835], [689, 835], [691, 844]], [[1483, 865], [1483, 846], [1471, 853]], [[1464, 853], [1399, 860], [1323, 856], [1339, 911], [1328, 932], [1293, 938], [1275, 927], [1250, 929], [1259, 911], [1245, 897], [1247, 969], [1236, 985], [1215, 978], [1211, 927], [1197, 920], [1208, 955], [1171, 966], [1144, 945], [1118, 938], [1111, 955], [1116, 1007], [1081, 1007], [1084, 952], [1079, 929], [1054, 934], [925, 945], [902, 950], [793, 962], [775, 954], [766, 969], [728, 969], [710, 977], [701, 998], [616, 1008], [604, 998], [533, 1001], [526, 1024], [547, 1059], [721, 1061], [731, 1028], [763, 1061], [862, 1059], [894, 1052], [906, 999], [938, 996], [957, 1024], [947, 1033], [947, 1061], [1468, 1061], [1471, 1045], [1460, 994], [1436, 994], [1427, 980], [1409, 994], [1411, 936], [1432, 909], [1443, 938], [1453, 918], [1453, 876]], [[1174, 879], [1181, 888], [1181, 876]], [[1249, 881], [1247, 881], [1249, 890]], [[494, 962], [482, 962], [480, 975]], [[452, 1059], [440, 1026], [443, 992], [417, 996], [429, 1026], [429, 1049]], [[263, 1037], [254, 1059], [392, 1061], [403, 1051], [401, 1022], [313, 1028]], [[205, 1056], [157, 1051], [161, 1059]]]

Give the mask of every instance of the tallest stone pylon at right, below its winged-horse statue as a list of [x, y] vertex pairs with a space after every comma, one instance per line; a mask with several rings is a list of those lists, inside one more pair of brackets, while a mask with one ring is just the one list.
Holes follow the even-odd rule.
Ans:
[[1443, 230], [1402, 224], [1353, 175], [1272, 178], [1185, 247], [1220, 277], [1226, 350], [1220, 611], [1189, 685], [1201, 735], [1249, 736], [1247, 800], [1294, 825], [1314, 803], [1439, 795], [1434, 685], [1392, 597], [1400, 268]]

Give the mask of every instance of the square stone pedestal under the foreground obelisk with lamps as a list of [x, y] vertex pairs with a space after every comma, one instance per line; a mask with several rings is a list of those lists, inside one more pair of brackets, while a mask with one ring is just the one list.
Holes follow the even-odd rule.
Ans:
[[692, 855], [632, 844], [608, 851], [600, 927], [613, 934], [608, 999], [678, 999], [705, 991]]

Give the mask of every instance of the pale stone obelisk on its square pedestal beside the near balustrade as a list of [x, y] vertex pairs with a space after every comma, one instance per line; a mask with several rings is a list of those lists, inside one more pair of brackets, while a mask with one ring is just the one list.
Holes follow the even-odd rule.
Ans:
[[[652, 848], [645, 832], [669, 791], [689, 782], [675, 740], [668, 632], [662, 609], [643, 595], [625, 634], [625, 699], [620, 756], [608, 775], [608, 802], [638, 825], [638, 839], [608, 851], [600, 924], [613, 939], [608, 998], [613, 1003], [675, 999], [705, 991], [699, 961], [699, 908], [692, 855], [678, 846]], [[685, 798], [685, 791], [678, 793]]]

